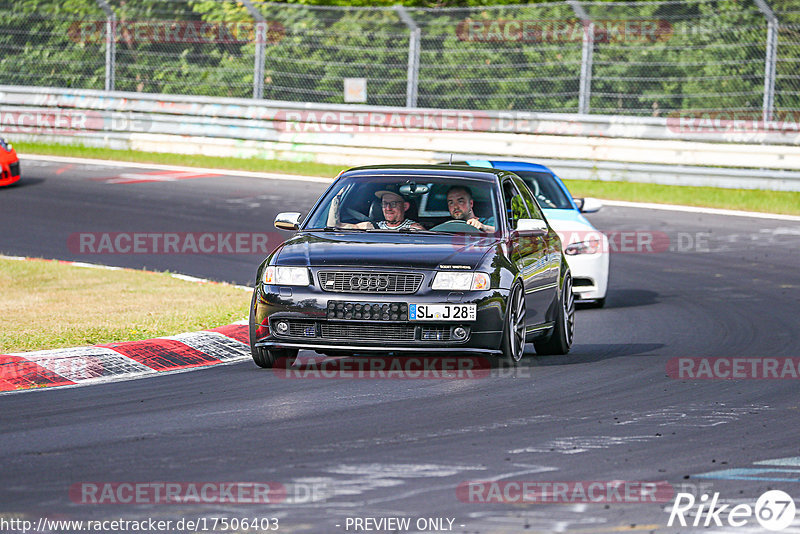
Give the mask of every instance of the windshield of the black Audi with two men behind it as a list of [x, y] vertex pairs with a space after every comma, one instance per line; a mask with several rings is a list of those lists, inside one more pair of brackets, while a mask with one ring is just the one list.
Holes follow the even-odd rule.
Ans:
[[353, 176], [339, 179], [303, 230], [495, 233], [495, 184], [468, 178]]

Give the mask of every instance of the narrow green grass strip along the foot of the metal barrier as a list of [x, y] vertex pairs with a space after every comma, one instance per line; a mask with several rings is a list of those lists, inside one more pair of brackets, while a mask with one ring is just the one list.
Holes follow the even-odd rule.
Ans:
[[[28, 153], [72, 156], [255, 172], [280, 172], [330, 178], [336, 176], [343, 168], [341, 165], [326, 165], [322, 163], [259, 158], [243, 159], [233, 157], [187, 156], [182, 154], [111, 150], [45, 143], [17, 142], [15, 146], [17, 148], [17, 153], [23, 155]], [[592, 196], [613, 200], [627, 200], [631, 202], [682, 204], [686, 206], [800, 215], [800, 193], [796, 192], [721, 189], [716, 187], [658, 185], [634, 182], [600, 182], [590, 180], [566, 180], [566, 182], [570, 191], [576, 197]]]

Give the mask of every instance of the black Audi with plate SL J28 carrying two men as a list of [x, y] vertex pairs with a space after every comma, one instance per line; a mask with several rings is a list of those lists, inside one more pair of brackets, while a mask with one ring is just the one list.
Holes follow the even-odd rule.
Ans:
[[[301, 222], [302, 220], [302, 222]], [[513, 364], [532, 341], [566, 354], [572, 277], [524, 182], [489, 168], [358, 167], [341, 173], [260, 265], [250, 345], [260, 367], [301, 349], [463, 353]]]

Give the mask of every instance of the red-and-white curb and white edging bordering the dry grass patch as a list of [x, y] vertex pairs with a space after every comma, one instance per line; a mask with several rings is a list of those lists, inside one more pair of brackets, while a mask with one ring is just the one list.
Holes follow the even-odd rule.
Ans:
[[[122, 267], [19, 256], [3, 259], [47, 261], [76, 267], [122, 270]], [[203, 278], [172, 274], [189, 282], [217, 284]], [[246, 286], [235, 286], [252, 291]], [[0, 354], [0, 394], [48, 387], [98, 384], [187, 371], [250, 359], [247, 321], [174, 336]]]

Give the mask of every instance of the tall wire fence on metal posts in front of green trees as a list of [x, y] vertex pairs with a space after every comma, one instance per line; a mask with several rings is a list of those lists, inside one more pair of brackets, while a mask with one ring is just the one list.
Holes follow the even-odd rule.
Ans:
[[[667, 116], [800, 112], [797, 0], [0, 0], [0, 84]], [[363, 89], [363, 86], [361, 87]]]

